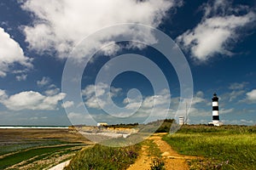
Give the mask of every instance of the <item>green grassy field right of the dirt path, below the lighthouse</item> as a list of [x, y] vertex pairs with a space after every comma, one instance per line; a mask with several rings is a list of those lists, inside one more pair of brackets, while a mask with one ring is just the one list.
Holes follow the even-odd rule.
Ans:
[[183, 126], [164, 139], [180, 154], [204, 157], [190, 169], [256, 169], [255, 126]]

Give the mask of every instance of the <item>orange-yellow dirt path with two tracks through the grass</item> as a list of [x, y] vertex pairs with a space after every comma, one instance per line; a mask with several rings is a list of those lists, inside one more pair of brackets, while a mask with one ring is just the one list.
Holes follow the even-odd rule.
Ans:
[[[172, 150], [172, 147], [163, 141], [162, 138], [163, 133], [155, 133], [153, 136], [148, 139], [153, 139], [154, 143], [158, 145], [160, 151], [162, 152], [161, 156], [165, 161], [166, 170], [187, 170], [189, 166], [187, 164], [187, 160], [196, 159], [195, 156], [183, 156], [179, 155], [177, 151]], [[150, 169], [150, 164], [152, 163], [152, 159], [148, 156], [147, 147], [143, 145], [140, 156], [137, 161], [128, 168], [128, 170], [148, 170]]]

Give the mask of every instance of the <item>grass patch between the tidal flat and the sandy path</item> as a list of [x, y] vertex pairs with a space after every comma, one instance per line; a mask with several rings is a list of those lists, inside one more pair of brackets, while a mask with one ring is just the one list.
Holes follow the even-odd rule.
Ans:
[[65, 169], [126, 169], [136, 160], [139, 150], [139, 144], [116, 148], [96, 144], [81, 150]]

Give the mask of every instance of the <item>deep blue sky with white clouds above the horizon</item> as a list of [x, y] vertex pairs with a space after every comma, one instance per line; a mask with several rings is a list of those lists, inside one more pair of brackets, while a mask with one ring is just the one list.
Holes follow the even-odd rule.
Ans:
[[[0, 125], [143, 123], [177, 118], [185, 113], [185, 103], [189, 123], [207, 123], [212, 120], [215, 92], [222, 122], [254, 125], [255, 5], [253, 0], [3, 0]], [[136, 30], [124, 23], [141, 27]], [[120, 24], [125, 26], [117, 26]], [[189, 65], [184, 71], [191, 72], [193, 86], [182, 88], [180, 78], [186, 78], [178, 76], [182, 69], [177, 71], [153, 48], [160, 39], [143, 26], [157, 29], [177, 43], [178, 56], [186, 62], [178, 60]], [[134, 41], [113, 41], [123, 37]], [[175, 50], [171, 49], [173, 54]], [[92, 52], [96, 53], [89, 56]], [[122, 57], [128, 60], [122, 61]], [[73, 62], [67, 71], [74, 76], [65, 82], [67, 59]], [[130, 66], [111, 79], [113, 71]], [[81, 77], [76, 77], [81, 68]], [[101, 69], [104, 76], [96, 82]], [[154, 69], [163, 73], [167, 84]], [[68, 92], [63, 83], [69, 82], [74, 89]], [[79, 87], [76, 99], [70, 94], [72, 90], [75, 94], [73, 85]], [[193, 92], [192, 103], [189, 93], [181, 96], [183, 90]]]

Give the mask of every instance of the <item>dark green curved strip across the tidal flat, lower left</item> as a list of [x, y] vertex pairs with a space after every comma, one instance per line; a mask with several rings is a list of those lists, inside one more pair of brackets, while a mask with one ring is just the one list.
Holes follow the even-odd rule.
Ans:
[[15, 154], [12, 154], [10, 156], [5, 156], [2, 159], [0, 159], [0, 169], [4, 169], [6, 167], [10, 167], [12, 165], [15, 165], [16, 163], [19, 163], [20, 161], [26, 161], [28, 159], [31, 159], [34, 156], [39, 156], [41, 158], [41, 155], [44, 154], [51, 154], [58, 150], [63, 150], [67, 148], [71, 148], [73, 145], [63, 145], [63, 146], [56, 146], [56, 147], [44, 147], [44, 148], [36, 148], [36, 149], [30, 149], [30, 150], [22, 150], [20, 152], [17, 152]]

